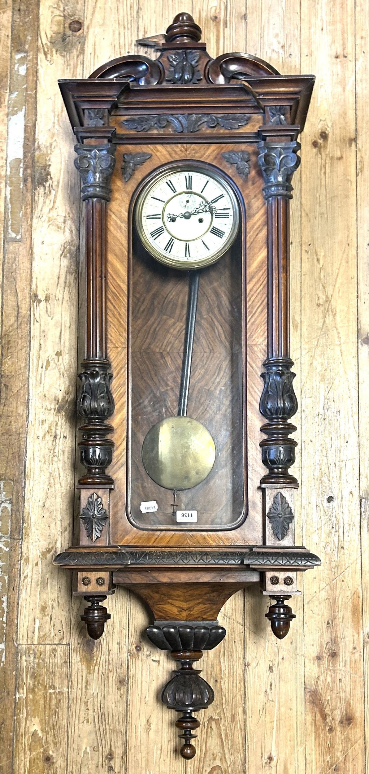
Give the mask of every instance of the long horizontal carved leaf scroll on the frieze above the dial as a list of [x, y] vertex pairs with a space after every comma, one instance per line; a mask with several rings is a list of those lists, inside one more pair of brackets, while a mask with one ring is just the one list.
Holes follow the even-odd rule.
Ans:
[[135, 132], [149, 132], [149, 129], [165, 129], [169, 124], [173, 132], [199, 132], [205, 125], [208, 129], [221, 126], [224, 129], [238, 129], [250, 121], [246, 113], [224, 113], [224, 115], [204, 115], [201, 113], [181, 113], [178, 115], [138, 115], [125, 118], [122, 124]]

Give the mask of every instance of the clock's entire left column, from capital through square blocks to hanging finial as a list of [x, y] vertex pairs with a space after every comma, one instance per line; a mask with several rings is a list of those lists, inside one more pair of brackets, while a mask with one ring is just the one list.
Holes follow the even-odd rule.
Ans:
[[[74, 164], [82, 178], [81, 197], [86, 204], [86, 320], [84, 360], [77, 413], [83, 418], [80, 459], [87, 471], [78, 481], [80, 489], [80, 546], [109, 543], [110, 491], [114, 481], [105, 471], [111, 464], [114, 443], [107, 436], [114, 413], [110, 382], [111, 363], [107, 356], [106, 309], [106, 218], [111, 197], [111, 175], [115, 146], [74, 147]], [[98, 639], [110, 614], [101, 606], [112, 593], [111, 574], [106, 571], [79, 572], [77, 594], [90, 603], [81, 615], [87, 632]]]

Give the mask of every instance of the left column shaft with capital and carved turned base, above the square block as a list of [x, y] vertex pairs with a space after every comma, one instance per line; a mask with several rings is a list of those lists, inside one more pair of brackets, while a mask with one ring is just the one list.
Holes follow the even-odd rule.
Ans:
[[83, 182], [81, 197], [86, 202], [86, 337], [77, 412], [84, 418], [78, 445], [87, 473], [79, 483], [113, 485], [113, 479], [105, 473], [114, 447], [106, 437], [113, 430], [106, 420], [114, 413], [111, 363], [106, 349], [106, 217], [115, 147], [78, 144], [74, 149], [74, 164]]

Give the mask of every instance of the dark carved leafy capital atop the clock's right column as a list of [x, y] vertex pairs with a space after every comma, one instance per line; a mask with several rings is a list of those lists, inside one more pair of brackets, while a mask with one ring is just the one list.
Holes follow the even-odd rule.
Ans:
[[292, 175], [297, 170], [300, 158], [297, 151], [299, 142], [258, 142], [258, 163], [265, 186], [265, 199], [282, 196], [292, 199]]

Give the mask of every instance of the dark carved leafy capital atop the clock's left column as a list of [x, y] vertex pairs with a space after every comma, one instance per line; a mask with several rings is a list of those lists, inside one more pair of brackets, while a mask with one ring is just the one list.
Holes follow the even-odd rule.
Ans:
[[82, 200], [104, 199], [111, 197], [111, 175], [115, 166], [115, 146], [87, 146], [79, 143], [74, 146], [77, 159], [74, 166], [82, 178]]

